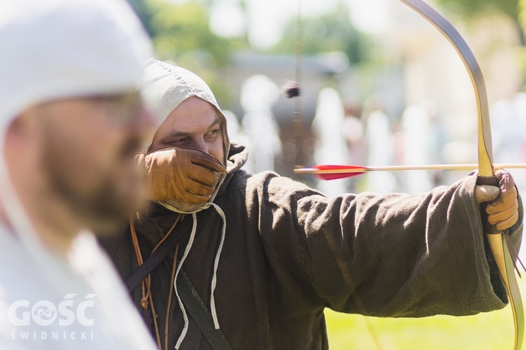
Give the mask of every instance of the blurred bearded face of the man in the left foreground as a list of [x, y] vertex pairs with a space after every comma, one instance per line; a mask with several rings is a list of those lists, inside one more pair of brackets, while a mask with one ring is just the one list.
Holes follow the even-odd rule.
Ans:
[[82, 226], [112, 231], [142, 196], [135, 154], [151, 119], [138, 95], [61, 101], [40, 112], [50, 194], [71, 206]]

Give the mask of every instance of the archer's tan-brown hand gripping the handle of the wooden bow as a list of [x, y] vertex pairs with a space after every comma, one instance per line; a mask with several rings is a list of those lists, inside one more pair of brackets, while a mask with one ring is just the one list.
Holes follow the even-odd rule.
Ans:
[[498, 231], [512, 227], [518, 220], [518, 200], [515, 181], [509, 172], [503, 169], [495, 171], [498, 187], [476, 185], [475, 199], [478, 204], [490, 202], [486, 207], [487, 221], [496, 224]]

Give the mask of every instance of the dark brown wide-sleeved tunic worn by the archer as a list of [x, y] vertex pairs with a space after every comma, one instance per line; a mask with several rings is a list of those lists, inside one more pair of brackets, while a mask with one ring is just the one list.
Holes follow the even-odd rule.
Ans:
[[[323, 310], [381, 317], [455, 316], [500, 309], [507, 298], [481, 231], [475, 176], [424, 194], [319, 191], [272, 172], [246, 174], [246, 151], [232, 146], [228, 177], [215, 203], [226, 214], [215, 303], [232, 349], [327, 349]], [[520, 198], [519, 198], [520, 200]], [[152, 204], [136, 220], [143, 257], [175, 213]], [[191, 215], [177, 230], [190, 232]], [[518, 247], [523, 207], [510, 229]], [[223, 220], [197, 213], [183, 264], [210, 307], [212, 268]], [[182, 256], [188, 237], [179, 247]], [[129, 233], [103, 242], [123, 278], [137, 267]], [[164, 331], [173, 255], [153, 272], [152, 294]], [[140, 288], [134, 293], [139, 306]], [[168, 349], [184, 320], [173, 297]], [[162, 333], [163, 334], [163, 333]], [[163, 336], [161, 337], [163, 338]], [[164, 340], [163, 340], [164, 342]], [[181, 349], [211, 349], [190, 318]]]

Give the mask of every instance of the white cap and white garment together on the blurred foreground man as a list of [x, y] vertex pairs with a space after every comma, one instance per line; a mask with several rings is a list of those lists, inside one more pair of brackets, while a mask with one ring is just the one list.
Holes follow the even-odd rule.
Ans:
[[[151, 41], [124, 0], [0, 0], [0, 154], [21, 110], [137, 91]], [[37, 239], [0, 156], [0, 349], [155, 349], [94, 235], [68, 257]]]

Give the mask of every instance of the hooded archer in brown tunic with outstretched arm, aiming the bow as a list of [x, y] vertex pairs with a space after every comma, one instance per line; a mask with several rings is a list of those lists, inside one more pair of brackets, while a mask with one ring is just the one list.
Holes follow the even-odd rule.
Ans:
[[197, 75], [153, 59], [146, 75], [160, 125], [140, 156], [150, 202], [105, 245], [160, 349], [327, 349], [325, 307], [421, 317], [505, 306], [479, 212], [490, 202], [488, 221], [518, 247], [523, 207], [504, 170], [500, 189], [472, 175], [413, 196], [327, 198], [242, 170], [247, 150], [230, 145]]

